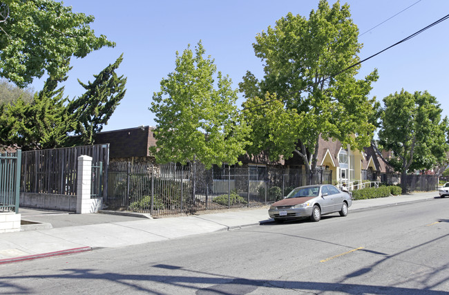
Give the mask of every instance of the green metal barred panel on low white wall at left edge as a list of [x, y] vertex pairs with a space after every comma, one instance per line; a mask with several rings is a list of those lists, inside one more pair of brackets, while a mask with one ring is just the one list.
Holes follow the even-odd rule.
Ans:
[[19, 213], [22, 151], [0, 153], [0, 211]]

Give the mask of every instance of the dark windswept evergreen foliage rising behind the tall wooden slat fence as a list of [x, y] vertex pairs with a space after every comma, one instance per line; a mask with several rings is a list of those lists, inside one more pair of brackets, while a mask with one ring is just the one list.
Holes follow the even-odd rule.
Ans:
[[[121, 61], [122, 56], [94, 75], [93, 83], [82, 84], [86, 93], [70, 102], [64, 97], [64, 87], [57, 88], [67, 77], [49, 77], [32, 102], [19, 98], [1, 105], [0, 145], [26, 151], [93, 144], [93, 134], [107, 124], [124, 96], [126, 78], [115, 73]], [[79, 140], [70, 135], [80, 135]]]

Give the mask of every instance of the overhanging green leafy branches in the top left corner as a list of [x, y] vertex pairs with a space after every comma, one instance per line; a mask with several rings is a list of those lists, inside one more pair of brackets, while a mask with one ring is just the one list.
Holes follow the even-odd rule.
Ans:
[[0, 77], [17, 86], [48, 73], [59, 79], [69, 70], [70, 57], [115, 46], [88, 26], [92, 15], [72, 12], [52, 0], [0, 1]]

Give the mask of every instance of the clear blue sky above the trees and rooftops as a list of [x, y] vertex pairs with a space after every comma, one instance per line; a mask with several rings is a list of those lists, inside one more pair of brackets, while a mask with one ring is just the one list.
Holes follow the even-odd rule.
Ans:
[[[361, 33], [378, 25], [418, 0], [350, 0], [352, 19]], [[329, 3], [334, 3], [330, 0]], [[124, 53], [117, 73], [128, 77], [126, 95], [103, 131], [154, 126], [148, 110], [153, 92], [160, 81], [175, 68], [175, 52], [188, 44], [193, 47], [201, 39], [206, 54], [215, 59], [223, 74], [229, 75], [233, 87], [247, 70], [261, 78], [262, 61], [254, 55], [254, 37], [276, 20], [292, 12], [308, 17], [318, 0], [227, 0], [227, 1], [143, 1], [143, 0], [67, 0], [75, 12], [93, 15], [90, 27], [96, 35], [115, 41], [115, 48], [102, 48], [84, 59], [72, 59], [65, 94], [73, 98], [84, 93], [77, 79], [86, 83], [93, 75]], [[412, 35], [430, 23], [449, 14], [447, 0], [421, 0], [408, 10], [359, 37], [364, 44], [364, 59]], [[379, 101], [396, 91], [428, 91], [437, 97], [443, 115], [449, 116], [448, 49], [449, 20], [426, 30], [417, 37], [391, 48], [362, 64], [360, 77], [374, 68], [379, 80], [370, 96]], [[42, 80], [32, 86], [38, 91]], [[242, 103], [239, 100], [238, 105]]]

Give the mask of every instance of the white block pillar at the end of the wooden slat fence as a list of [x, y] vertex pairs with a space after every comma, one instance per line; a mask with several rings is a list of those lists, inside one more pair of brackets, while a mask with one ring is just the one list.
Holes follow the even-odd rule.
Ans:
[[92, 184], [92, 157], [78, 157], [77, 174], [77, 213], [94, 213], [90, 200], [90, 185]]

